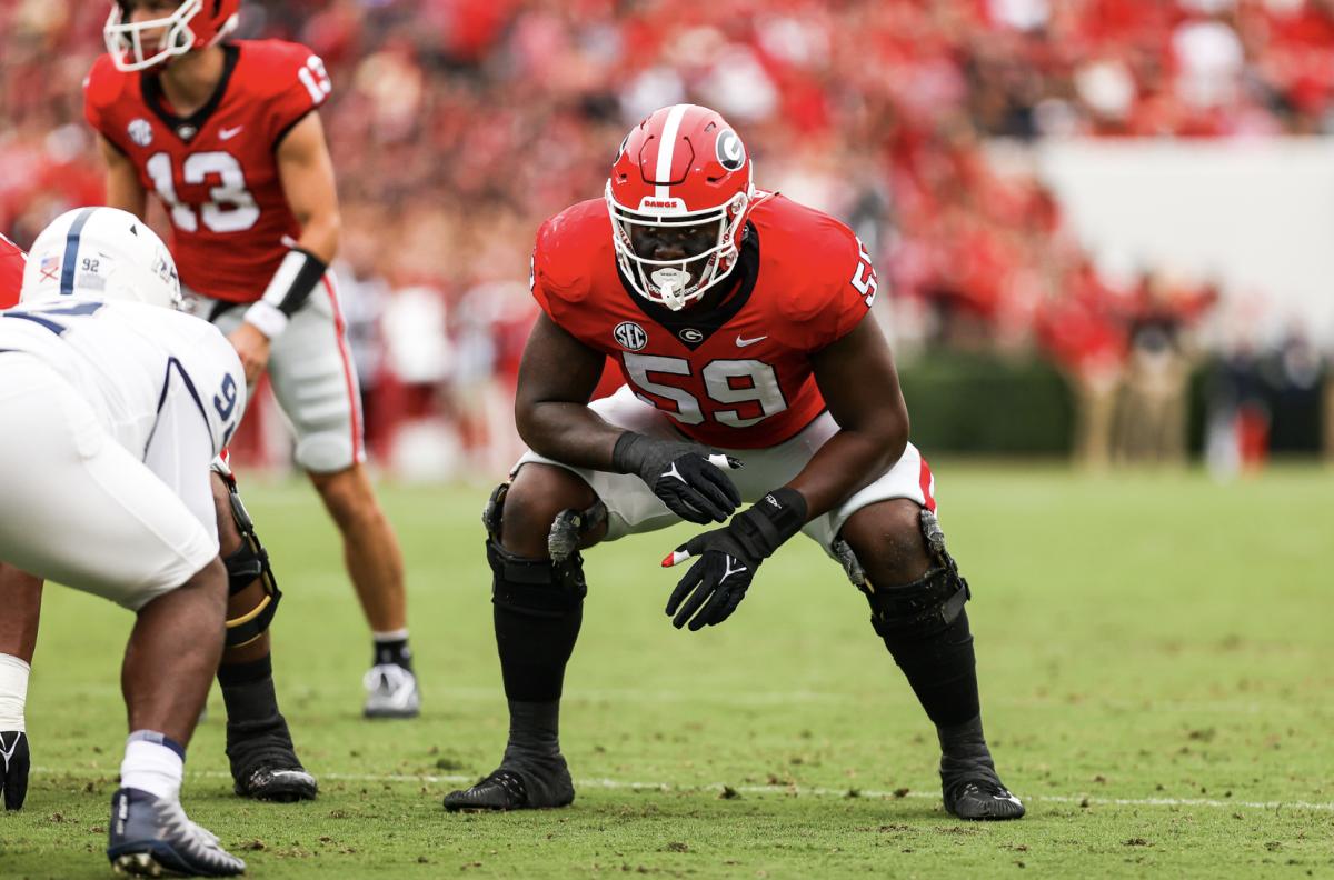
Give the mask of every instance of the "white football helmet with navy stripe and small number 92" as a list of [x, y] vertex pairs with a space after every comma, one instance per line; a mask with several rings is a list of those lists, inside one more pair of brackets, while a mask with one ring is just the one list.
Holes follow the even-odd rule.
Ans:
[[180, 308], [180, 279], [167, 245], [119, 208], [75, 208], [41, 231], [23, 272], [24, 303], [63, 297]]

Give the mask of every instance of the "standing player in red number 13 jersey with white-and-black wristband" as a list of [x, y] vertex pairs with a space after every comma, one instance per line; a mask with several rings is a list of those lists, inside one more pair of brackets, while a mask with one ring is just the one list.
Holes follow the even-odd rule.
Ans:
[[364, 713], [410, 717], [419, 695], [403, 555], [363, 467], [358, 380], [327, 269], [339, 208], [317, 111], [332, 85], [305, 47], [224, 41], [239, 7], [113, 3], [85, 115], [107, 161], [107, 203], [143, 216], [156, 193], [181, 287], [228, 335], [251, 383], [268, 369], [371, 625]]

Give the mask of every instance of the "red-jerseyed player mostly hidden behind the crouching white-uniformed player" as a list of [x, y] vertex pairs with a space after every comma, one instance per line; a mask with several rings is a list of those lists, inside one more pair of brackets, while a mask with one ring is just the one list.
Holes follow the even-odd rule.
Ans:
[[[0, 309], [19, 303], [24, 267], [23, 251], [0, 235]], [[55, 263], [37, 269], [51, 277], [63, 272]], [[297, 760], [273, 695], [268, 627], [281, 592], [268, 552], [241, 504], [225, 449], [213, 461], [209, 480], [220, 555], [231, 583], [217, 680], [228, 711], [227, 753], [235, 791], [259, 800], [308, 800], [316, 796], [319, 785]], [[0, 563], [0, 607], [5, 609], [0, 615], [0, 791], [5, 809], [21, 808], [28, 789], [24, 707], [41, 592], [40, 577]]]

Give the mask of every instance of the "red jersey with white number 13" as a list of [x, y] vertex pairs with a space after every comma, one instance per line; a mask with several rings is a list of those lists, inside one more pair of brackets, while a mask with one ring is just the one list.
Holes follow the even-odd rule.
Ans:
[[157, 76], [123, 73], [105, 55], [84, 84], [84, 115], [161, 200], [181, 284], [251, 303], [301, 233], [277, 145], [332, 85], [324, 63], [295, 43], [237, 40], [223, 51], [217, 89], [189, 117], [168, 107]]

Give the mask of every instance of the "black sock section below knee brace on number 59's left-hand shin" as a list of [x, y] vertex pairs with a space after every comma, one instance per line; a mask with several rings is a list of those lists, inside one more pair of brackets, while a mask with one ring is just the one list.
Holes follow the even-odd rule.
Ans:
[[583, 607], [560, 617], [536, 617], [492, 605], [504, 695], [522, 703], [555, 703], [583, 623]]

